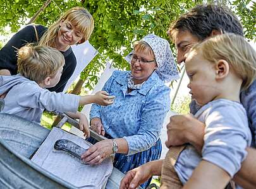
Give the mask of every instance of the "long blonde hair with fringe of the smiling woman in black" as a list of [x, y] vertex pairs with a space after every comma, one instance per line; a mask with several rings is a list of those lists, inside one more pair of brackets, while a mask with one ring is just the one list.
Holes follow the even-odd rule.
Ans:
[[68, 20], [73, 26], [79, 30], [82, 35], [82, 42], [85, 42], [90, 38], [92, 31], [94, 30], [94, 18], [83, 7], [74, 7], [66, 11], [53, 25], [49, 26], [48, 30], [42, 38], [40, 38], [39, 45], [46, 45], [49, 47], [56, 47], [55, 38], [58, 36], [59, 24], [61, 21]]

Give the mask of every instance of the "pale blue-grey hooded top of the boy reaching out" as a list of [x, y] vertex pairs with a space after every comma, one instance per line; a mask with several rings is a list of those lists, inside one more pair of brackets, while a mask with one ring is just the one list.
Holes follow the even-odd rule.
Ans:
[[40, 123], [44, 109], [49, 112], [76, 112], [80, 96], [41, 88], [23, 76], [0, 76], [0, 95], [6, 93], [3, 113]]

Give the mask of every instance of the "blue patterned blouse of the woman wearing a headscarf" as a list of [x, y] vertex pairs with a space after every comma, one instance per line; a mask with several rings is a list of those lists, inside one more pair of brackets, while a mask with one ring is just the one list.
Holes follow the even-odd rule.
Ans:
[[113, 105], [92, 105], [90, 119], [99, 117], [106, 133], [128, 142], [128, 154], [154, 146], [170, 109], [170, 89], [153, 72], [142, 88], [127, 94], [129, 71], [114, 71], [102, 90], [115, 96]]

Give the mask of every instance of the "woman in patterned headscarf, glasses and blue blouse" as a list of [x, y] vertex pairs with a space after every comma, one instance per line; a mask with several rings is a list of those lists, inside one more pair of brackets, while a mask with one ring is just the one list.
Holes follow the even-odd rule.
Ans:
[[159, 137], [170, 110], [164, 82], [178, 78], [168, 41], [154, 34], [134, 43], [130, 64], [131, 71], [114, 71], [102, 89], [116, 96], [113, 105], [92, 105], [90, 111], [91, 129], [108, 140], [82, 155], [83, 161], [99, 164], [115, 154], [114, 167], [123, 173], [161, 156]]

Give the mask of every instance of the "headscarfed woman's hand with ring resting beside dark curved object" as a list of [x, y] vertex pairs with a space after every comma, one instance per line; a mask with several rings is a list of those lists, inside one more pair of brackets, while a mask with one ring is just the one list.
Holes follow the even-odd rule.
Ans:
[[89, 147], [87, 151], [83, 152], [81, 159], [88, 164], [101, 164], [112, 153], [113, 142], [111, 139], [106, 139]]

